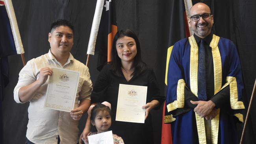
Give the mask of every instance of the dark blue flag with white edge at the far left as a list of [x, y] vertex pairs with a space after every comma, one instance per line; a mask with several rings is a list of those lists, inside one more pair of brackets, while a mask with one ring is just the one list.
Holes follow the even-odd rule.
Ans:
[[4, 143], [2, 100], [9, 82], [8, 55], [23, 54], [19, 28], [11, 0], [0, 0], [0, 143]]

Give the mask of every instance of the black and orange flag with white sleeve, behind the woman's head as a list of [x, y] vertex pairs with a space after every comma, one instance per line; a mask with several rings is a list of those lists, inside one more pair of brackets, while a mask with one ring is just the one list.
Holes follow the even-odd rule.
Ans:
[[116, 33], [114, 0], [97, 0], [87, 54], [98, 54], [98, 70], [111, 61], [111, 45]]

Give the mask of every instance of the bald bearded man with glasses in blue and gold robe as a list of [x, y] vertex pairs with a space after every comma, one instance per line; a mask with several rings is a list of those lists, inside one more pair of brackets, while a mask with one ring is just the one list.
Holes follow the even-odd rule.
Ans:
[[194, 35], [176, 42], [169, 59], [165, 121], [173, 144], [236, 144], [245, 108], [236, 46], [211, 32], [206, 4], [195, 4], [189, 15]]

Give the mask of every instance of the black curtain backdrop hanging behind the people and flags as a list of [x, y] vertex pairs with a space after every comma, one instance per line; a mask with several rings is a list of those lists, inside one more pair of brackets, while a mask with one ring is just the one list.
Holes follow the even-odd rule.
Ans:
[[[164, 94], [166, 54], [169, 41], [172, 0], [116, 0], [117, 25], [119, 29], [130, 28], [141, 42], [142, 59], [154, 68], [161, 94]], [[193, 4], [202, 0], [193, 0]], [[26, 61], [48, 52], [50, 24], [58, 18], [74, 24], [72, 55], [85, 63], [91, 24], [96, 0], [12, 0]], [[256, 1], [255, 0], [204, 0], [214, 14], [214, 31], [221, 37], [232, 40], [240, 56], [245, 85], [244, 103], [248, 107], [256, 78]], [[91, 80], [95, 82], [98, 71], [97, 55], [89, 62]], [[28, 105], [15, 103], [13, 89], [22, 69], [20, 55], [9, 56], [9, 84], [2, 102], [4, 144], [24, 144], [28, 122]], [[256, 144], [256, 100], [250, 113], [244, 144]], [[161, 113], [152, 110], [154, 141], [160, 144]], [[80, 120], [80, 130], [85, 124]], [[245, 118], [245, 115], [244, 115]], [[243, 124], [237, 124], [239, 137]], [[239, 139], [239, 138], [238, 138]]]

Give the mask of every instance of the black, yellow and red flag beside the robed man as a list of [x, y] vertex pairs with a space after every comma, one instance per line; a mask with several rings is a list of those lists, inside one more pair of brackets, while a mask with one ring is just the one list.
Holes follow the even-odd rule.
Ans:
[[[185, 6], [186, 4], [186, 6]], [[167, 60], [166, 60], [166, 71], [165, 71], [165, 87], [167, 87], [167, 72], [169, 59], [171, 56], [171, 51], [175, 42], [189, 37], [189, 28], [187, 24], [187, 15], [186, 8], [187, 5], [191, 7], [191, 0], [172, 0], [170, 11], [171, 11], [171, 22], [170, 22], [170, 31], [169, 31], [169, 44], [167, 49]], [[187, 8], [188, 9], [188, 8]], [[171, 124], [170, 117], [172, 117], [167, 112], [166, 105], [164, 103], [163, 107], [163, 120], [162, 120], [162, 135], [161, 135], [161, 144], [173, 144], [172, 134], [171, 134]]]

